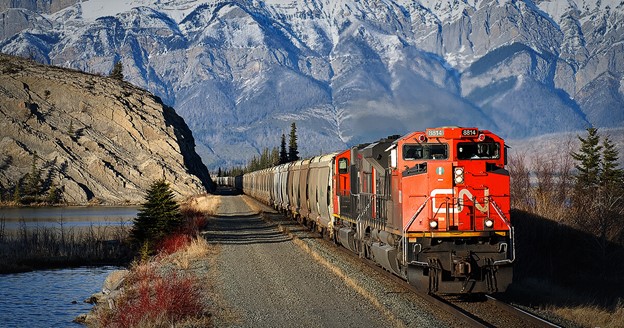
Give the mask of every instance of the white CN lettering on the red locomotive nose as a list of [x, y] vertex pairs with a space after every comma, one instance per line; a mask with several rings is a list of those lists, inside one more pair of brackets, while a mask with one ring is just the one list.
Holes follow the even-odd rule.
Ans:
[[474, 203], [477, 210], [485, 213], [489, 208], [489, 195], [490, 190], [485, 188], [481, 205], [468, 189], [460, 190], [457, 198], [454, 197], [453, 189], [434, 189], [431, 191], [431, 207], [434, 213], [460, 213], [464, 210], [464, 204], [470, 202]]

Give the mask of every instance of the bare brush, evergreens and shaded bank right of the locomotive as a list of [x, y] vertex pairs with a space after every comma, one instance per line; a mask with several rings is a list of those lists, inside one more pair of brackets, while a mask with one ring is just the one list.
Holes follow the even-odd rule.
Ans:
[[578, 140], [578, 149], [569, 141], [550, 157], [509, 158], [512, 223], [526, 257], [518, 268], [556, 279], [587, 270], [587, 276], [621, 279], [624, 170], [615, 144], [598, 129]]

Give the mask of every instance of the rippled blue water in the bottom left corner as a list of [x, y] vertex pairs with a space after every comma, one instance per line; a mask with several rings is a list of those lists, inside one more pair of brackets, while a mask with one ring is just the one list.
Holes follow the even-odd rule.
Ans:
[[92, 305], [83, 301], [98, 292], [115, 267], [42, 270], [0, 275], [2, 327], [68, 327]]

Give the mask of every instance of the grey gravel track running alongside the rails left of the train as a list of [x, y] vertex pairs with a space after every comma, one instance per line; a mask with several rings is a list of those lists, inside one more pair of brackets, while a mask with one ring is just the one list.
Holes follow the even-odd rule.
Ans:
[[219, 249], [211, 270], [217, 327], [453, 326], [444, 313], [247, 196], [222, 196], [216, 215], [204, 235]]

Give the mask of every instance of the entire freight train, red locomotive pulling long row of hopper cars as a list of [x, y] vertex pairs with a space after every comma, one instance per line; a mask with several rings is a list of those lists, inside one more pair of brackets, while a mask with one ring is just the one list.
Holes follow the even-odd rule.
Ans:
[[440, 127], [217, 182], [423, 291], [496, 293], [515, 259], [506, 154], [490, 131]]

